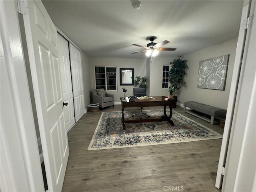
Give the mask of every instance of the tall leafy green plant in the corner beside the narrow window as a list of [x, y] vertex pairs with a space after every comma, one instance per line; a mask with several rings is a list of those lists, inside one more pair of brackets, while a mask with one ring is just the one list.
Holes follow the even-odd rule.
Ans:
[[183, 59], [183, 56], [178, 56], [178, 58], [171, 61], [171, 69], [169, 71], [169, 82], [175, 87], [174, 96], [178, 90], [187, 86], [184, 78], [187, 75], [187, 60]]

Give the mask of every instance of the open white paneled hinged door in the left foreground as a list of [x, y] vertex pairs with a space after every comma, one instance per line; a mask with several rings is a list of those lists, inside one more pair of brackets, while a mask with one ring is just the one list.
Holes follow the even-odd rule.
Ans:
[[62, 108], [57, 31], [41, 1], [27, 3], [24, 26], [48, 190], [61, 191], [69, 151]]

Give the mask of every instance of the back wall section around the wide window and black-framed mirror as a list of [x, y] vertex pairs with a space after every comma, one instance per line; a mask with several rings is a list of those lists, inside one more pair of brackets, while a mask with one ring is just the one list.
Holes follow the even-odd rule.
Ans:
[[[89, 64], [91, 89], [95, 89], [94, 66], [117, 66], [117, 91], [108, 91], [108, 93], [114, 94], [115, 102], [120, 102], [120, 97], [124, 96], [122, 92], [124, 86], [120, 86], [120, 68], [134, 68], [134, 77], [146, 75], [146, 59], [89, 58]], [[127, 89], [126, 96], [133, 95], [134, 86], [127, 85], [125, 88]]]

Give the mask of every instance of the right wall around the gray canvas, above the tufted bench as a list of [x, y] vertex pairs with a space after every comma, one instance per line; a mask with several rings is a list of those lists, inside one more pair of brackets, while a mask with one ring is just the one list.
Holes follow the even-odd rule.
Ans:
[[[232, 79], [234, 58], [236, 53], [237, 38], [204, 48], [194, 53], [185, 55], [184, 58], [188, 60], [188, 70], [185, 81], [187, 88], [183, 88], [178, 96], [178, 102], [183, 104], [186, 101], [196, 101], [211, 106], [227, 109], [228, 96], [230, 92], [230, 84]], [[216, 56], [229, 54], [228, 72], [226, 77], [225, 90], [210, 90], [197, 88], [197, 76], [199, 61], [213, 58]]]

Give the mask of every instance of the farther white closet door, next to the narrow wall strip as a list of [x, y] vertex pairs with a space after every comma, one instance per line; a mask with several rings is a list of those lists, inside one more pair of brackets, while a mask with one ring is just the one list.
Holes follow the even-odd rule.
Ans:
[[84, 114], [84, 90], [81, 52], [71, 43], [69, 44], [69, 52], [71, 62], [75, 117], [77, 122]]

